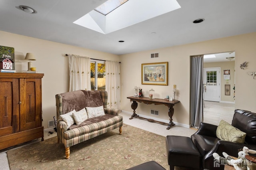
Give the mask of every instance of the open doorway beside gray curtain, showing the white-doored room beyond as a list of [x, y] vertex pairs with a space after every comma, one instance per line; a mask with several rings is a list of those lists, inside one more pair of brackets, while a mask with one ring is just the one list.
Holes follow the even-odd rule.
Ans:
[[[203, 89], [203, 99], [205, 100], [203, 106], [203, 121], [205, 123], [218, 125], [221, 119], [227, 122], [232, 121], [235, 103], [233, 90], [235, 85], [234, 57], [235, 52], [230, 51], [214, 53], [213, 57], [204, 58], [203, 84], [206, 85], [206, 91]], [[225, 70], [230, 70], [230, 79], [228, 80], [224, 77]], [[208, 77], [207, 71], [210, 71], [208, 72]], [[230, 85], [230, 95], [225, 94], [225, 85]], [[214, 95], [214, 97], [209, 97], [211, 95]]]

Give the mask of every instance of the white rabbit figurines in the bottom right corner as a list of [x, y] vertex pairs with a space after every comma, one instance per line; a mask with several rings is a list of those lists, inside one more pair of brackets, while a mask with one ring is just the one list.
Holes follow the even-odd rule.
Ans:
[[251, 154], [256, 154], [256, 150], [251, 150], [244, 146], [243, 150], [238, 152], [238, 159], [234, 159], [229, 156], [226, 152], [222, 152], [224, 157], [221, 157], [217, 153], [213, 153], [212, 156], [214, 159], [218, 160], [218, 162], [222, 162], [222, 164], [228, 164], [234, 166], [236, 170], [246, 170], [247, 169], [247, 161], [245, 156]]

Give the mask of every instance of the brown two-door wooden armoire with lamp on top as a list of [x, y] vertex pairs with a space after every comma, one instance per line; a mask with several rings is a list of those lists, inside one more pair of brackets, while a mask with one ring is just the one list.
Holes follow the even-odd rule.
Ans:
[[44, 140], [41, 73], [0, 73], [0, 150]]

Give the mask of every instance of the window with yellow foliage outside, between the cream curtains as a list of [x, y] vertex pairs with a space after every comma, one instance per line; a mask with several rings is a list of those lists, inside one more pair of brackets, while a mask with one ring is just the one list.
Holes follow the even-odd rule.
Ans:
[[91, 88], [92, 90], [106, 89], [106, 71], [104, 61], [91, 61]]

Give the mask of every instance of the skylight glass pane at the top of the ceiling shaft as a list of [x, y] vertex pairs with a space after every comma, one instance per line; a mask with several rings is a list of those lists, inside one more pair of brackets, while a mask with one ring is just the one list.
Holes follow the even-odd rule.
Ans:
[[111, 11], [115, 10], [116, 8], [124, 4], [126, 1], [128, 0], [108, 0], [107, 2], [101, 4], [94, 10], [100, 12], [103, 15], [107, 15]]

